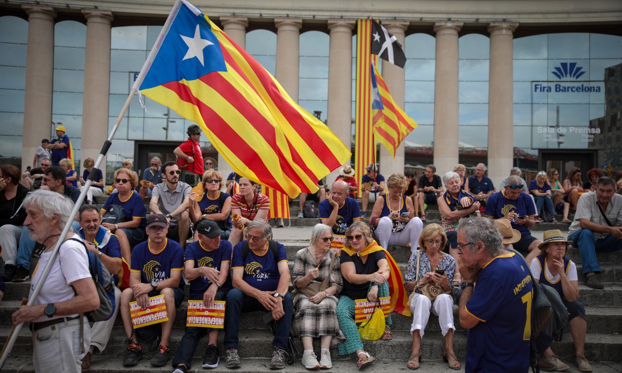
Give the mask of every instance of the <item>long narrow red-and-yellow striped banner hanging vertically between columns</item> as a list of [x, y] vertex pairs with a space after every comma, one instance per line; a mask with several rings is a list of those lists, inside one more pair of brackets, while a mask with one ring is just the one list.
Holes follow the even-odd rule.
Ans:
[[356, 34], [356, 142], [355, 178], [361, 195], [365, 167], [376, 163], [376, 141], [371, 124], [371, 19], [357, 21]]

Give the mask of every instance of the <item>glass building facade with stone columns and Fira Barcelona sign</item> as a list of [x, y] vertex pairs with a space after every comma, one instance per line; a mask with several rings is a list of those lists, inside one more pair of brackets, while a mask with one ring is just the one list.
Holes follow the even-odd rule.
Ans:
[[[32, 163], [58, 122], [77, 161], [96, 158], [173, 1], [7, 1], [0, 4], [1, 162]], [[396, 103], [419, 127], [381, 173], [405, 163], [509, 168], [622, 168], [617, 1], [196, 1], [300, 106], [353, 146], [356, 19], [373, 17], [404, 46], [404, 69], [383, 63]], [[294, 6], [295, 4], [295, 6]], [[378, 4], [381, 4], [379, 9]], [[109, 150], [145, 168], [170, 159], [192, 124], [135, 97]], [[610, 135], [611, 134], [611, 135]], [[203, 137], [205, 140], [205, 137]], [[207, 142], [205, 152], [213, 148]], [[230, 166], [220, 162], [226, 175]], [[332, 175], [335, 176], [334, 173]], [[330, 177], [329, 177], [330, 179]], [[109, 179], [108, 179], [109, 181]]]

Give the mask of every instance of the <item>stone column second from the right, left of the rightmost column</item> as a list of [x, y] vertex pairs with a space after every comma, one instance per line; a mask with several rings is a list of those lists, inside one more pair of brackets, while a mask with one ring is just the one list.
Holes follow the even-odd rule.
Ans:
[[458, 31], [462, 22], [435, 22], [434, 165], [437, 173], [458, 163]]

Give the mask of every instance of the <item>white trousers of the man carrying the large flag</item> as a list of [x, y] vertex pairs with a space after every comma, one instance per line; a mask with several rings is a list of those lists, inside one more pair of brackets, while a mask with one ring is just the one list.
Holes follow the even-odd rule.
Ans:
[[82, 371], [82, 358], [91, 343], [91, 326], [86, 318], [84, 323], [84, 352], [80, 346], [80, 319], [41, 328], [32, 333], [34, 353], [32, 362], [35, 372], [72, 372]]

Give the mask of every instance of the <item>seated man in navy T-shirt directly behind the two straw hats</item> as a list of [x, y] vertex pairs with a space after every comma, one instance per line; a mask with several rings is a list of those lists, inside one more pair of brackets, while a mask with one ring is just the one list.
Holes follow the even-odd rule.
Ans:
[[513, 244], [514, 249], [526, 253], [525, 260], [531, 263], [531, 260], [539, 254], [538, 246], [542, 241], [531, 236], [531, 231], [529, 231], [529, 228], [536, 225], [534, 220], [536, 209], [531, 197], [522, 192], [523, 186], [520, 177], [516, 175], [508, 177], [503, 190], [488, 198], [484, 216], [493, 219], [508, 219], [512, 223], [512, 228], [521, 233], [521, 239]]

